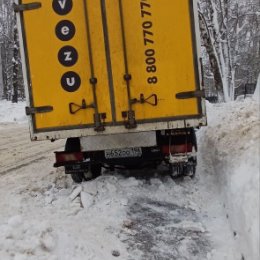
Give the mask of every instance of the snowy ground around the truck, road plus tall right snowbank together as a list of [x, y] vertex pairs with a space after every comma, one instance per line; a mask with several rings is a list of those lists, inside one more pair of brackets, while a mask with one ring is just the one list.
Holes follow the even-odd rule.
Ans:
[[197, 177], [177, 181], [161, 168], [75, 185], [52, 168], [63, 140], [0, 123], [0, 259], [258, 260], [258, 109], [209, 105]]

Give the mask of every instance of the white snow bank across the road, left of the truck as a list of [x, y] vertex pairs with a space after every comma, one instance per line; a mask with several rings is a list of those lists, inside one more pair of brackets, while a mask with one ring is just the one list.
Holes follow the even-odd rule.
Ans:
[[26, 122], [25, 102], [0, 100], [0, 123]]

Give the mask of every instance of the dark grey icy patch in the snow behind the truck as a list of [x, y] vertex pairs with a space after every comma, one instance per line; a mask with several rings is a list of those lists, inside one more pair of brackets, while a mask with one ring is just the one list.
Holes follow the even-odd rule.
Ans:
[[195, 210], [138, 198], [129, 208], [129, 218], [134, 235], [127, 243], [130, 251], [141, 252], [140, 260], [207, 259], [211, 244]]

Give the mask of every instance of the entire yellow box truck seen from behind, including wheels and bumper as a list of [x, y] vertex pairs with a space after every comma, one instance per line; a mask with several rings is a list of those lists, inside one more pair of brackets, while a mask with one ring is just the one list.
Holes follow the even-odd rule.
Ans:
[[206, 125], [196, 0], [31, 1], [14, 5], [26, 114], [32, 140], [67, 138], [56, 166], [76, 181], [144, 161], [194, 171]]

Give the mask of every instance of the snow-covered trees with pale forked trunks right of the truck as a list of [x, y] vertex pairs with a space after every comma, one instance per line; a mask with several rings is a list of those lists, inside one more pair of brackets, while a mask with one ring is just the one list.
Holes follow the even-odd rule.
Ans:
[[199, 1], [202, 41], [222, 101], [259, 73], [259, 8], [259, 0]]

